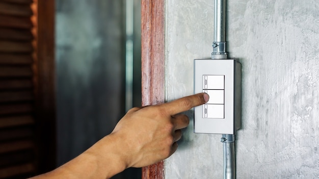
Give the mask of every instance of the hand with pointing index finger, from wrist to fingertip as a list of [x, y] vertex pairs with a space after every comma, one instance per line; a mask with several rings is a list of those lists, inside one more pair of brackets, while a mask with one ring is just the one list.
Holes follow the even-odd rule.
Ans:
[[188, 116], [179, 114], [208, 101], [205, 93], [161, 105], [132, 108], [110, 135], [120, 141], [126, 167], [143, 167], [170, 157], [177, 149]]

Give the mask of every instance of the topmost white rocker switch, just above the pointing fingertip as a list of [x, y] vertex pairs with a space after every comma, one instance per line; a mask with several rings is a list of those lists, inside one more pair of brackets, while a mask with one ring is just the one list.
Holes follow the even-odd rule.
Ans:
[[203, 89], [224, 89], [224, 75], [203, 75]]

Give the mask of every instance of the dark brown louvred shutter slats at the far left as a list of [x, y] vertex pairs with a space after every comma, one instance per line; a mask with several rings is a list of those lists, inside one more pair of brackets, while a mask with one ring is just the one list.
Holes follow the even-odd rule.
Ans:
[[38, 7], [0, 0], [0, 178], [29, 177], [43, 165]]

